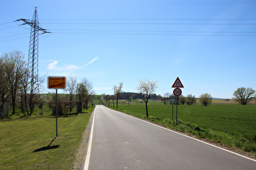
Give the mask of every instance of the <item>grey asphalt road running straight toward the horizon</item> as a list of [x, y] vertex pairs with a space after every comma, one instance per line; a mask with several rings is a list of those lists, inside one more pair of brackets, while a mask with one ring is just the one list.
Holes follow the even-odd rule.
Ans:
[[85, 169], [256, 169], [254, 159], [100, 105], [92, 132]]

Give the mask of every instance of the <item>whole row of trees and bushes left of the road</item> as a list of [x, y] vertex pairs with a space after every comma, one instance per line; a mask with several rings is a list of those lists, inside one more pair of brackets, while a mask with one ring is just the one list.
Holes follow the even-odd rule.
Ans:
[[[11, 115], [15, 114], [15, 108], [19, 108], [24, 116], [31, 116], [35, 107], [42, 109], [43, 104], [48, 103], [48, 106], [55, 113], [55, 96], [40, 93], [44, 90], [45, 78], [33, 76], [34, 79], [38, 79], [37, 82], [31, 81], [27, 62], [25, 62], [22, 52], [15, 50], [10, 53], [3, 53], [0, 57], [0, 108], [8, 102], [10, 103]], [[58, 97], [58, 113], [60, 115], [72, 113], [77, 101], [88, 109], [95, 94], [93, 84], [86, 78], [78, 83], [76, 77], [68, 77], [67, 87], [64, 90], [67, 95]]]

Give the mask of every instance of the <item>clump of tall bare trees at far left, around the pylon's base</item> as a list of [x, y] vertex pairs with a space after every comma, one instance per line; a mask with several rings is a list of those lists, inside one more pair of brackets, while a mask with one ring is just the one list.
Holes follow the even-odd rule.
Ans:
[[29, 80], [27, 63], [24, 61], [24, 54], [20, 51], [3, 53], [0, 58], [0, 108], [6, 102], [11, 102], [11, 114], [15, 114], [15, 105], [20, 103], [20, 110], [24, 114], [31, 115], [36, 104], [40, 103], [39, 89], [43, 80], [38, 79], [37, 83]]

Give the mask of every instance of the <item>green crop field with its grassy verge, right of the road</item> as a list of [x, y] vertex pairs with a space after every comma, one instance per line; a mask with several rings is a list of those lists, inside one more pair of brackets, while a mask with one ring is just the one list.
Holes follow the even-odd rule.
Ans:
[[176, 125], [176, 105], [172, 121], [172, 106], [151, 102], [149, 118], [145, 104], [119, 104], [119, 111], [153, 121], [173, 130], [206, 138], [223, 146], [250, 152], [256, 156], [256, 104], [179, 105]]

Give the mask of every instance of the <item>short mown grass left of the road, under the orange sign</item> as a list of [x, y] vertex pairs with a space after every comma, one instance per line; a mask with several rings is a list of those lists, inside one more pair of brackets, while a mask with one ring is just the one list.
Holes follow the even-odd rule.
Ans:
[[90, 113], [59, 117], [55, 139], [54, 117], [0, 120], [0, 169], [72, 169], [89, 117]]

